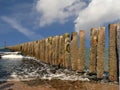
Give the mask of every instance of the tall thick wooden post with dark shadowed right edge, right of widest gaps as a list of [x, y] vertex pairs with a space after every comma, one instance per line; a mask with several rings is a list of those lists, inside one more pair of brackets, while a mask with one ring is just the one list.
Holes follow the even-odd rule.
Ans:
[[109, 25], [109, 79], [118, 80], [117, 24]]

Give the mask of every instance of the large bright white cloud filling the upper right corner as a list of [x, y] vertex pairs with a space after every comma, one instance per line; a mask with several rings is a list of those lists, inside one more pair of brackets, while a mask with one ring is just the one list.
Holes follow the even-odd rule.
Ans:
[[120, 18], [120, 0], [92, 0], [89, 6], [79, 12], [75, 30], [88, 30]]

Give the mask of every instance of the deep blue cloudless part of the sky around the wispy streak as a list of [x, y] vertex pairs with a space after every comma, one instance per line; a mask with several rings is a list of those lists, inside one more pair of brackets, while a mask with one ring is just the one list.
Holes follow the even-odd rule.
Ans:
[[65, 24], [54, 23], [49, 26], [39, 27], [37, 20], [39, 16], [37, 16], [37, 12], [34, 11], [34, 4], [35, 0], [0, 0], [0, 16], [2, 18], [5, 18], [5, 20], [13, 20], [21, 27], [35, 33], [28, 37], [19, 32], [19, 30], [17, 30], [18, 28], [14, 28], [10, 23], [0, 19], [1, 46], [4, 44], [4, 41], [6, 41], [8, 45], [14, 45], [74, 31], [74, 24], [71, 21]]

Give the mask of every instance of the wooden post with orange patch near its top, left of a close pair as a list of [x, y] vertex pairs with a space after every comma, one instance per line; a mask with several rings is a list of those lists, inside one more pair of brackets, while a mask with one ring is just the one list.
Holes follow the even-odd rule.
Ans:
[[90, 33], [90, 70], [89, 73], [96, 73], [97, 64], [97, 30], [95, 28], [91, 29]]

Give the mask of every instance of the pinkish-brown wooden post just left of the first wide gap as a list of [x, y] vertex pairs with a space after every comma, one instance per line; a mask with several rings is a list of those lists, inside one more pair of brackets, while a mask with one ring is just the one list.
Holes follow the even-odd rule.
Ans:
[[80, 50], [79, 50], [79, 59], [78, 59], [78, 70], [80, 72], [84, 71], [85, 60], [86, 60], [86, 45], [85, 45], [85, 31], [80, 30]]

